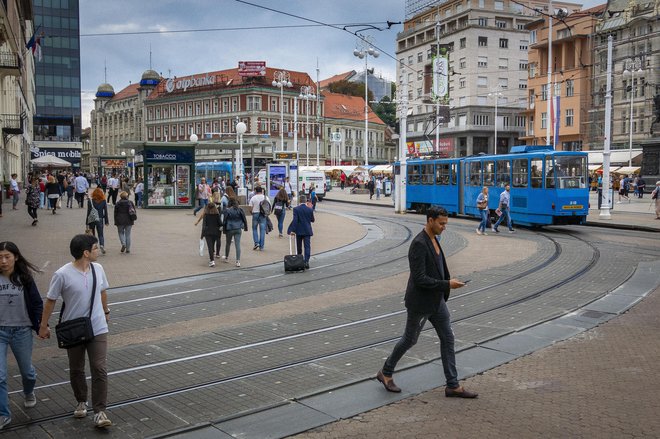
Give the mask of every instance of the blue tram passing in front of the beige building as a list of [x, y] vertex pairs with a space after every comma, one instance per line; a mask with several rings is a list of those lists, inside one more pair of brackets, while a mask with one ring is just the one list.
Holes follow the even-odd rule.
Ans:
[[451, 214], [479, 217], [482, 188], [488, 187], [488, 207], [494, 211], [508, 184], [516, 224], [582, 224], [589, 213], [585, 152], [514, 146], [504, 155], [413, 159], [406, 165], [406, 207], [418, 212], [438, 204]]

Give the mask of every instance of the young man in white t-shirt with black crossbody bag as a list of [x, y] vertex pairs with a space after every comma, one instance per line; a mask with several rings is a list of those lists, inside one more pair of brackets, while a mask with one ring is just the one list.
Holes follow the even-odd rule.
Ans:
[[[48, 319], [55, 308], [55, 302], [62, 298], [66, 307], [62, 321], [73, 320], [90, 315], [94, 338], [86, 343], [66, 350], [69, 357], [69, 379], [77, 405], [73, 411], [76, 418], [87, 416], [87, 378], [85, 375], [85, 356], [90, 358], [92, 374], [92, 407], [94, 409], [94, 425], [105, 428], [112, 425], [105, 413], [108, 400], [108, 372], [106, 356], [108, 352], [108, 279], [101, 264], [95, 263], [99, 256], [99, 245], [96, 237], [91, 235], [76, 235], [69, 245], [74, 261], [61, 267], [53, 274], [46, 295], [46, 303], [39, 327], [39, 338], [50, 338]], [[96, 277], [96, 282], [94, 282]], [[92, 285], [96, 289], [92, 291]], [[92, 305], [92, 295], [94, 303]]]

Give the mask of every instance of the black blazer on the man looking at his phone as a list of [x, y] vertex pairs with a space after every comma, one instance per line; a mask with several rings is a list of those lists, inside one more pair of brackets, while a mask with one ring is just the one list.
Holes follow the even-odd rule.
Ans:
[[442, 247], [440, 259], [442, 267], [438, 266], [431, 238], [422, 230], [413, 239], [408, 250], [410, 277], [405, 297], [408, 310], [420, 314], [433, 313], [440, 306], [441, 298], [444, 297], [445, 302], [449, 299], [450, 276]]

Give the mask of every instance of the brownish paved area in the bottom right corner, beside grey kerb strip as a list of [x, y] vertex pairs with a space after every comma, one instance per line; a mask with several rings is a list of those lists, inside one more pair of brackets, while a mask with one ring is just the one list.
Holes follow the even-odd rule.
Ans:
[[329, 438], [657, 438], [660, 289], [592, 330], [465, 381], [295, 436]]

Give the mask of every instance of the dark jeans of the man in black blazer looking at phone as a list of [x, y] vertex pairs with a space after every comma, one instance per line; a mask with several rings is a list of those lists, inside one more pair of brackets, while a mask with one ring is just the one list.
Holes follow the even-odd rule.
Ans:
[[442, 369], [445, 372], [447, 387], [454, 389], [458, 387], [456, 354], [454, 352], [454, 331], [451, 329], [449, 309], [447, 309], [447, 304], [444, 300], [440, 302], [438, 310], [432, 314], [416, 314], [408, 311], [406, 329], [399, 342], [394, 346], [394, 350], [390, 356], [385, 360], [383, 375], [387, 377], [392, 376], [394, 368], [401, 357], [417, 343], [419, 333], [424, 328], [426, 320], [431, 322], [436, 334], [438, 334], [438, 338], [440, 339], [440, 355], [442, 355]]

